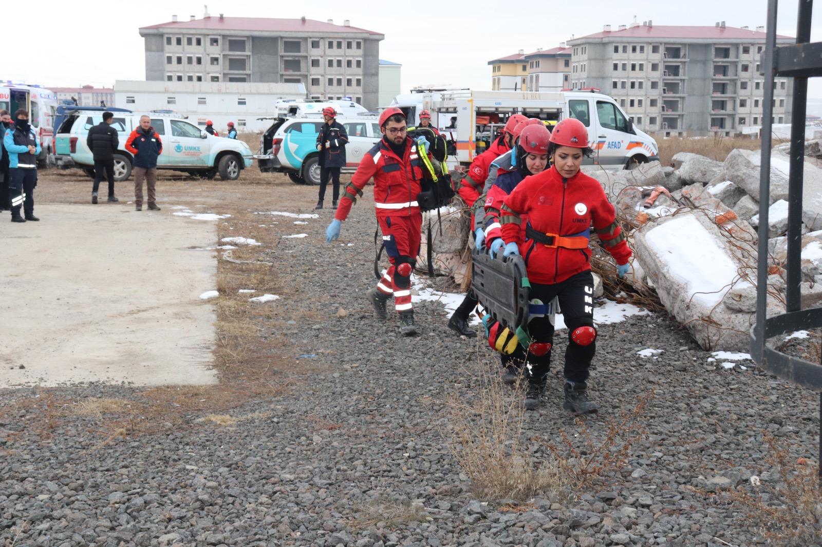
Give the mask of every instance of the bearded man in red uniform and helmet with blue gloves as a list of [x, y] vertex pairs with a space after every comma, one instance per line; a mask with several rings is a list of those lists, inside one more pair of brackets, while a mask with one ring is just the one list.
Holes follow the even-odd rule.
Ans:
[[417, 329], [411, 306], [411, 273], [423, 231], [423, 214], [417, 202], [422, 191], [423, 162], [418, 157], [417, 142], [406, 135], [408, 126], [402, 110], [386, 108], [379, 123], [382, 140], [363, 156], [345, 187], [334, 220], [326, 228], [326, 241], [330, 243], [339, 237], [341, 223], [348, 217], [351, 205], [358, 195], [363, 195], [363, 187], [373, 177], [376, 220], [391, 265], [376, 287], [367, 292], [368, 301], [376, 316], [385, 320], [386, 303], [394, 296], [394, 307], [402, 324], [400, 332], [414, 336]]

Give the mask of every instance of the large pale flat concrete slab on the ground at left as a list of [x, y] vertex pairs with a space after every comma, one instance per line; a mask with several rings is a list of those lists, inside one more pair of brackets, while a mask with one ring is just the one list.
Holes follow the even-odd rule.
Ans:
[[[213, 384], [215, 223], [124, 205], [38, 205], [0, 223], [0, 388]], [[24, 365], [25, 369], [19, 368]]]

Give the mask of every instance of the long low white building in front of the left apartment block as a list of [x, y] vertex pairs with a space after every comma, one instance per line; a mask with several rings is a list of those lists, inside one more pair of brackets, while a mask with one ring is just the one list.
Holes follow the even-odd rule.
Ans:
[[[304, 101], [302, 84], [117, 80], [114, 105], [135, 112], [170, 111], [196, 126], [214, 122], [220, 135], [229, 122], [238, 131], [264, 131], [278, 101]], [[258, 118], [268, 118], [260, 120]]]

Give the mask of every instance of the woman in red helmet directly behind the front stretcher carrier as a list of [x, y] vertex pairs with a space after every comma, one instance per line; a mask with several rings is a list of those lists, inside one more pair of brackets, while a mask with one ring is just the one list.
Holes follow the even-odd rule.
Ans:
[[[515, 168], [513, 171], [503, 172], [496, 178], [494, 186], [488, 191], [485, 198], [485, 223], [487, 234], [487, 249], [491, 257], [495, 257], [503, 246], [501, 224], [500, 224], [500, 207], [502, 201], [514, 191], [516, 186], [524, 179], [531, 175], [536, 175], [543, 172], [548, 167], [548, 140], [551, 139], [551, 133], [546, 129], [542, 122], [536, 125], [524, 126], [526, 122], [520, 122], [517, 126], [520, 131], [515, 130], [517, 140], [515, 140], [514, 148], [512, 149]], [[527, 216], [522, 215], [520, 220], [527, 223]], [[520, 234], [524, 238], [524, 233]], [[553, 325], [550, 320], [547, 321], [547, 327], [550, 328], [550, 336], [553, 335]], [[547, 350], [550, 352], [550, 349]], [[505, 369], [505, 374], [502, 376], [502, 382], [505, 384], [514, 384], [517, 379], [520, 379], [522, 366], [525, 363], [525, 352], [522, 346], [517, 345], [515, 351], [511, 355], [505, 353], [500, 354], [502, 366]], [[551, 356], [547, 356], [547, 361], [550, 362]]]

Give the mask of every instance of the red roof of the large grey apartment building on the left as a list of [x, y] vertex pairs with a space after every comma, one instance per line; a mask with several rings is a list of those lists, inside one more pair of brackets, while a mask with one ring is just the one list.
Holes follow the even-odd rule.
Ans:
[[194, 21], [169, 21], [159, 25], [141, 27], [142, 29], [192, 29], [192, 30], [247, 30], [250, 32], [365, 32], [381, 36], [373, 30], [360, 29], [356, 26], [333, 25], [313, 19], [264, 19], [261, 17], [204, 17]]

